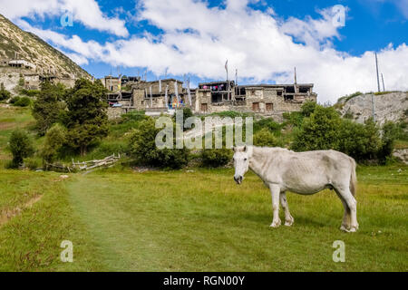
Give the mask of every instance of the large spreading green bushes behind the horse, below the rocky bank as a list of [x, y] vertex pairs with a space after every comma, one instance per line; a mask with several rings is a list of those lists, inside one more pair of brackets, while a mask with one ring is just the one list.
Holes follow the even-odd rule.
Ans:
[[295, 133], [293, 150], [338, 150], [357, 161], [384, 161], [391, 156], [396, 126], [384, 125], [383, 138], [373, 119], [364, 124], [341, 119], [333, 107], [316, 106]]

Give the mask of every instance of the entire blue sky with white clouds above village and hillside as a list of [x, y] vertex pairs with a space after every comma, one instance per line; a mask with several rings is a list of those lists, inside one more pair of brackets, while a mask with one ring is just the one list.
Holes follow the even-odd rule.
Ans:
[[[335, 5], [345, 7], [345, 26], [334, 27]], [[296, 66], [300, 82], [315, 83], [320, 102], [335, 102], [376, 88], [378, 52], [387, 89], [408, 89], [407, 0], [0, 0], [0, 6], [96, 77], [119, 67], [127, 75], [147, 70], [152, 80], [167, 69], [197, 84], [225, 78], [228, 59], [238, 82], [274, 83], [292, 82]], [[61, 24], [65, 12], [73, 26]]]

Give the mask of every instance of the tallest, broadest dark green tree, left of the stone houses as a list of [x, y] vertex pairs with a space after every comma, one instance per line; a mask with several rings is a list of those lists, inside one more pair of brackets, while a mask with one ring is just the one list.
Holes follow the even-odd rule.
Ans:
[[67, 144], [79, 149], [81, 155], [87, 148], [108, 134], [108, 104], [106, 89], [101, 81], [80, 79], [68, 90], [63, 123], [68, 129]]

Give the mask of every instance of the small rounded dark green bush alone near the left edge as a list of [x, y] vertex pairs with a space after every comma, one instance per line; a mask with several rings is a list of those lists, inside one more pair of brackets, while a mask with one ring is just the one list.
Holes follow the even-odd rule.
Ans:
[[33, 140], [30, 139], [26, 132], [15, 130], [10, 136], [9, 149], [13, 154], [11, 167], [18, 168], [23, 164], [24, 158], [33, 155]]

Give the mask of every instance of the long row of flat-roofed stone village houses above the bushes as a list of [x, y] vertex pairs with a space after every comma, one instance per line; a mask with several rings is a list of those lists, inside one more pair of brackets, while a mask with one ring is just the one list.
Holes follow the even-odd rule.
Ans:
[[116, 118], [128, 111], [146, 111], [150, 115], [174, 113], [188, 107], [196, 114], [221, 111], [241, 111], [282, 119], [284, 112], [300, 111], [303, 103], [316, 102], [313, 83], [245, 84], [234, 81], [201, 82], [197, 89], [176, 79], [152, 82], [134, 77], [125, 82], [118, 77], [105, 77], [108, 89], [110, 117]]

